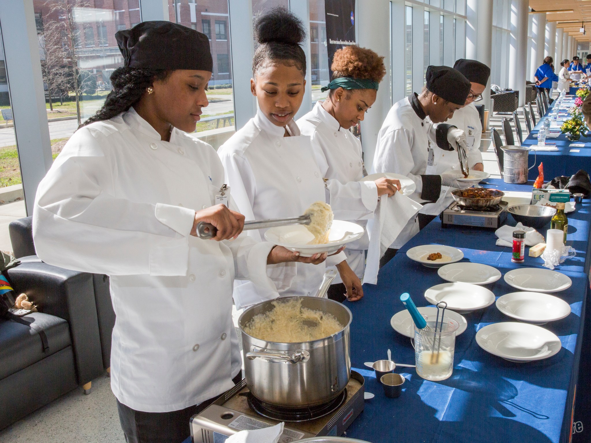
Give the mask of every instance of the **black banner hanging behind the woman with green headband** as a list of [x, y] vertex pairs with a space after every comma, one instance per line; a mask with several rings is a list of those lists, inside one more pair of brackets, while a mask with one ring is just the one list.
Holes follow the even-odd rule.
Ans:
[[[336, 50], [355, 44], [355, 0], [324, 0], [329, 67]], [[332, 79], [332, 71], [330, 71]]]

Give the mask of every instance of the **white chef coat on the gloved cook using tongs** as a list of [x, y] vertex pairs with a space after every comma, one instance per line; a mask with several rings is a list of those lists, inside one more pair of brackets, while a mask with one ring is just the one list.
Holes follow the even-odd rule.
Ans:
[[435, 203], [425, 203], [426, 200], [421, 198], [421, 175], [430, 174], [427, 171], [429, 143], [433, 145], [433, 149], [440, 148], [436, 145], [433, 123], [417, 115], [411, 106], [411, 97], [413, 96], [394, 103], [382, 123], [382, 128], [378, 132], [372, 172], [395, 172], [406, 175], [417, 186], [417, 190], [409, 197], [423, 204], [420, 212], [437, 215], [452, 202], [452, 197], [448, 195], [451, 188], [441, 186], [439, 198]]

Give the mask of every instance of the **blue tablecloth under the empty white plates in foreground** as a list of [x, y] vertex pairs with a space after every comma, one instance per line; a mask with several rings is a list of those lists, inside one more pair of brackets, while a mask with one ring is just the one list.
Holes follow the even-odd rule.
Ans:
[[[530, 191], [528, 185], [507, 185], [488, 180], [501, 190]], [[371, 442], [567, 442], [571, 410], [577, 382], [587, 276], [584, 262], [589, 256], [591, 226], [589, 201], [569, 214], [568, 244], [577, 257], [567, 260], [558, 271], [568, 275], [573, 285], [557, 295], [571, 306], [563, 320], [544, 325], [560, 337], [563, 348], [550, 359], [532, 363], [511, 363], [482, 350], [475, 341], [479, 328], [499, 321], [512, 321], [495, 305], [465, 314], [468, 328], [456, 341], [454, 372], [443, 382], [421, 379], [414, 369], [400, 368], [407, 380], [398, 399], [384, 396], [374, 373], [365, 361], [386, 358], [388, 348], [399, 363], [414, 364], [410, 339], [396, 333], [390, 318], [404, 309], [400, 294], [410, 292], [418, 306], [428, 305], [424, 291], [443, 283], [437, 269], [426, 268], [408, 259], [410, 247], [437, 243], [463, 250], [464, 261], [486, 263], [504, 275], [511, 269], [541, 267], [540, 258], [527, 257], [525, 263], [511, 262], [509, 248], [495, 245], [492, 230], [470, 227], [443, 229], [433, 220], [410, 240], [384, 268], [377, 285], [364, 285], [365, 297], [348, 307], [351, 325], [352, 366], [366, 377], [365, 389], [375, 398], [365, 403], [365, 411], [347, 431], [347, 437]], [[515, 224], [508, 218], [509, 224]], [[504, 279], [487, 286], [497, 297], [515, 291]]]

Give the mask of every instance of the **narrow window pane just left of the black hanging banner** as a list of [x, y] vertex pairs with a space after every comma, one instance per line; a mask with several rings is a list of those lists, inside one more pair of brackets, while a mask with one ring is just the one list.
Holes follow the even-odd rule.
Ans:
[[320, 92], [320, 88], [330, 82], [324, 0], [310, 0], [310, 69], [312, 73], [312, 103], [316, 103], [318, 100], [326, 98], [328, 91]]

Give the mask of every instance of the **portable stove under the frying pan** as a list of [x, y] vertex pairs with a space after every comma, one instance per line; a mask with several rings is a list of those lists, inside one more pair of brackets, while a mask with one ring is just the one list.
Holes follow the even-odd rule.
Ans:
[[443, 210], [439, 216], [441, 226], [479, 226], [497, 229], [507, 219], [507, 203], [502, 201], [496, 206], [486, 208], [474, 208], [462, 206], [454, 201]]

